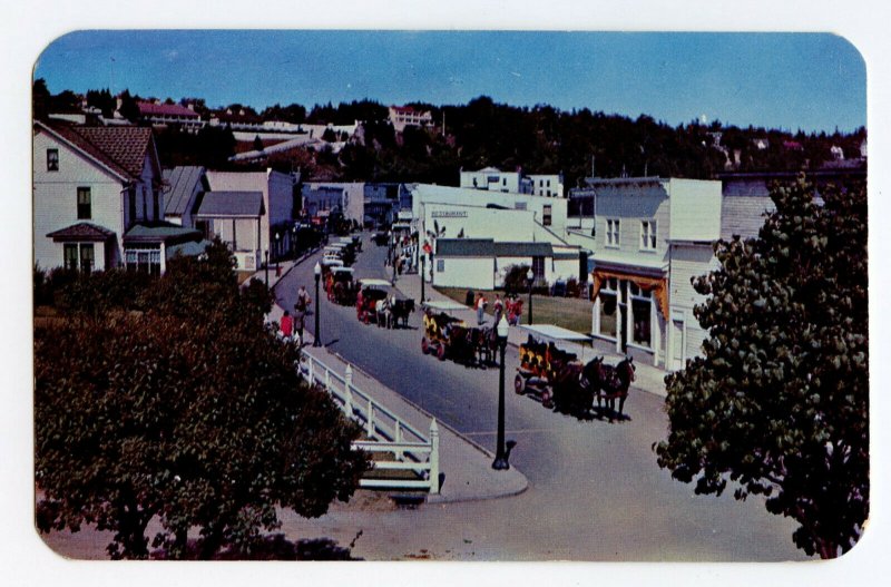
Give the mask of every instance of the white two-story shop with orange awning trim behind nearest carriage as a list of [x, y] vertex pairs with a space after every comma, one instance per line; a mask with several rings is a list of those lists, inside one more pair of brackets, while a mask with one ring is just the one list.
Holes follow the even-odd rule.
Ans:
[[[721, 183], [589, 178], [570, 219], [593, 243], [595, 346], [668, 370], [701, 353], [706, 332], [693, 315], [704, 297], [692, 280], [716, 266]], [[570, 239], [571, 242], [577, 242]]]

